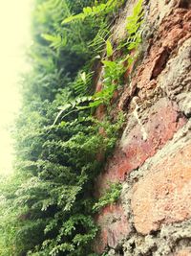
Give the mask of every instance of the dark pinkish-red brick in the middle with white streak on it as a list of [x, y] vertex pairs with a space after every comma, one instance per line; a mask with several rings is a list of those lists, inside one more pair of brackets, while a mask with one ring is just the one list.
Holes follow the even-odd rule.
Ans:
[[109, 160], [105, 173], [98, 176], [97, 190], [101, 192], [111, 181], [123, 181], [125, 175], [153, 156], [185, 124], [185, 119], [178, 116], [176, 105], [164, 98], [160, 99], [150, 109], [148, 119], [143, 125], [148, 133], [147, 140], [143, 140], [139, 125], [133, 128], [123, 138], [123, 146], [118, 147], [113, 158]]

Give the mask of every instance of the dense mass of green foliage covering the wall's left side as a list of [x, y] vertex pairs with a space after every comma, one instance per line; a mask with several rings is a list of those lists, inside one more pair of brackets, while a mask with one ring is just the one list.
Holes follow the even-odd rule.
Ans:
[[[124, 122], [122, 113], [115, 120], [94, 117], [96, 106], [110, 105], [123, 85], [130, 59], [113, 58], [111, 16], [122, 3], [35, 0], [28, 53], [32, 70], [21, 82], [23, 106], [13, 132], [15, 172], [1, 178], [2, 256], [96, 255], [91, 248], [95, 212], [117, 201], [121, 189], [113, 184], [97, 202], [94, 198], [95, 178]], [[138, 46], [141, 19], [139, 1], [122, 46], [128, 53]], [[97, 55], [103, 58], [103, 88], [95, 93]]]

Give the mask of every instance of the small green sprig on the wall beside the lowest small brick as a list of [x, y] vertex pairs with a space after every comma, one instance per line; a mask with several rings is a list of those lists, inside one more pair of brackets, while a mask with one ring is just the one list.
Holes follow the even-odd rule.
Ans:
[[121, 194], [122, 185], [120, 183], [111, 184], [105, 194], [98, 199], [96, 204], [93, 206], [94, 211], [99, 211], [102, 207], [112, 204], [117, 201]]

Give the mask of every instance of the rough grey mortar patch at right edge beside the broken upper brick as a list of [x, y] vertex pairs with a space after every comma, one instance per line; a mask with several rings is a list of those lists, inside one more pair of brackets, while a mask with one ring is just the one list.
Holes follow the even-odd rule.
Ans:
[[191, 114], [191, 38], [179, 49], [175, 58], [171, 58], [159, 76], [159, 86], [176, 101], [185, 115]]

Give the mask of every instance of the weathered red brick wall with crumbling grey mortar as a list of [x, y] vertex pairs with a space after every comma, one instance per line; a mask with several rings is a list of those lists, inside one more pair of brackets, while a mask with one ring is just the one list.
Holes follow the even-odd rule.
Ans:
[[[127, 1], [113, 40], [125, 36]], [[114, 155], [97, 177], [123, 189], [96, 217], [99, 254], [191, 255], [191, 1], [145, 1], [141, 55], [119, 94], [126, 123]], [[99, 81], [100, 82], [100, 81]], [[99, 117], [103, 109], [97, 110]]]

